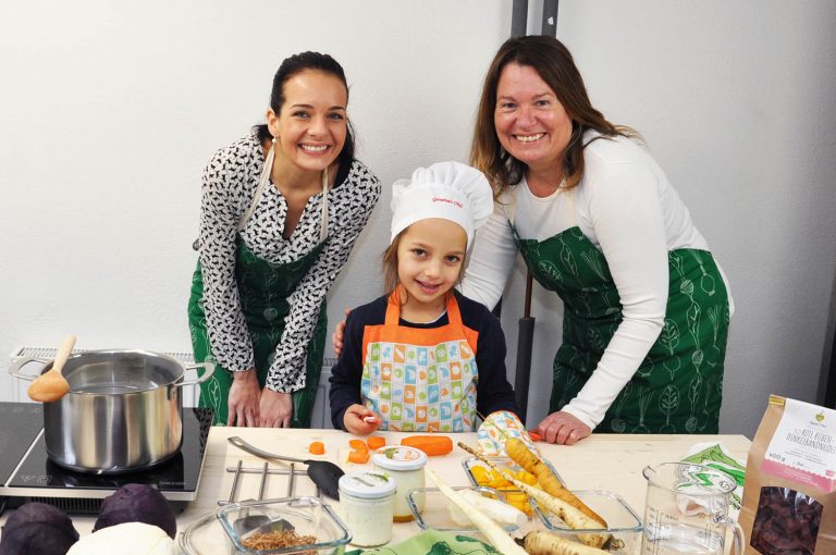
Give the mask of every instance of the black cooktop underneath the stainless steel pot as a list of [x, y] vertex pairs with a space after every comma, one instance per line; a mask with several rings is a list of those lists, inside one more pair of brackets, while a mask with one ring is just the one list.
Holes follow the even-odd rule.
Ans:
[[[121, 485], [145, 483], [160, 490], [170, 502], [194, 501], [211, 422], [212, 409], [184, 408], [183, 446], [172, 458], [143, 471], [91, 474], [67, 470], [49, 459], [41, 433], [41, 405], [0, 403], [0, 495], [9, 496], [10, 506], [40, 501], [61, 505], [67, 511], [86, 513], [88, 509], [83, 507], [88, 504], [78, 499], [100, 503]], [[74, 510], [74, 505], [79, 508]], [[96, 506], [94, 503], [89, 511], [96, 511]]]

